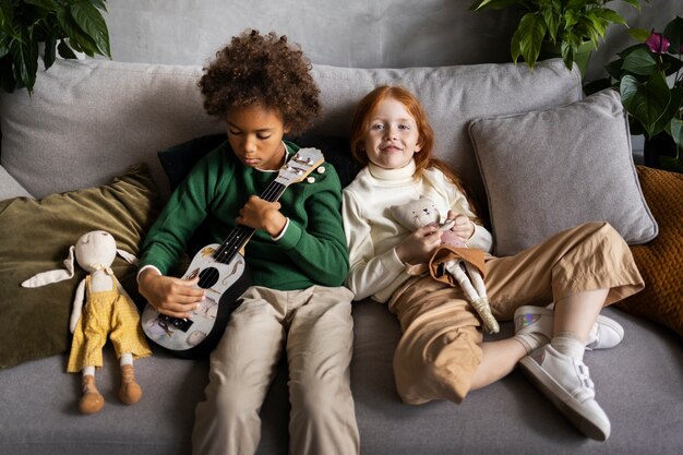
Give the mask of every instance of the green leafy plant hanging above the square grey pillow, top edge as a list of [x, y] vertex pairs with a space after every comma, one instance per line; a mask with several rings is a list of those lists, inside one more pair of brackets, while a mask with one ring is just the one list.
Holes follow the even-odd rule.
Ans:
[[[592, 49], [598, 48], [607, 28], [612, 24], [626, 25], [621, 14], [607, 8], [612, 1], [476, 0], [470, 9], [519, 10], [522, 16], [510, 45], [515, 63], [522, 58], [529, 68], [534, 68], [541, 52], [546, 50], [547, 55], [562, 57], [568, 70], [572, 70], [576, 62], [584, 75], [589, 55]], [[621, 1], [640, 10], [639, 0]]]

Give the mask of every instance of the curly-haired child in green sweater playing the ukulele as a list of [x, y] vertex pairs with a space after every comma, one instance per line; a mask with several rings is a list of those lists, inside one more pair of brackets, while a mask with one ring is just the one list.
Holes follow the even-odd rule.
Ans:
[[299, 147], [284, 142], [319, 115], [311, 64], [286, 36], [249, 31], [204, 68], [208, 113], [227, 141], [209, 152], [171, 195], [143, 246], [139, 287], [159, 313], [189, 318], [204, 290], [197, 278], [167, 276], [202, 223], [206, 243], [236, 225], [254, 228], [244, 258], [253, 283], [211, 355], [206, 399], [197, 405], [196, 454], [253, 454], [259, 411], [276, 366], [289, 367], [290, 452], [355, 454], [359, 435], [350, 392], [352, 294], [343, 287], [348, 255], [342, 188], [334, 168], [268, 202], [255, 194]]

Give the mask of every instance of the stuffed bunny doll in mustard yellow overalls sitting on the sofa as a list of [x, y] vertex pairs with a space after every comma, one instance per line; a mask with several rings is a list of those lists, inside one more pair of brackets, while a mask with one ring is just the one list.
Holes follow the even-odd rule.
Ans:
[[88, 273], [79, 284], [73, 300], [69, 324], [73, 340], [67, 367], [70, 373], [82, 371], [83, 396], [79, 408], [83, 414], [95, 414], [105, 405], [95, 384], [95, 368], [103, 366], [101, 350], [107, 336], [121, 366], [119, 398], [128, 405], [142, 397], [142, 388], [135, 382], [133, 358], [152, 354], [142, 333], [137, 309], [111, 271], [117, 252], [129, 263], [136, 261], [132, 254], [117, 249], [109, 232], [94, 230], [69, 249], [69, 256], [64, 260], [67, 270], [39, 273], [22, 283], [23, 287], [39, 287], [72, 278], [74, 256]]

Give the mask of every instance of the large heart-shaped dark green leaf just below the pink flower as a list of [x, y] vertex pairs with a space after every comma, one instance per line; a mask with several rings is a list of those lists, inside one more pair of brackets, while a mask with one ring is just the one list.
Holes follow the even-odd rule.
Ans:
[[660, 132], [669, 122], [669, 119], [666, 123], [659, 121], [671, 100], [667, 79], [662, 74], [652, 73], [645, 83], [627, 74], [622, 77], [619, 91], [624, 107], [643, 124], [648, 137]]

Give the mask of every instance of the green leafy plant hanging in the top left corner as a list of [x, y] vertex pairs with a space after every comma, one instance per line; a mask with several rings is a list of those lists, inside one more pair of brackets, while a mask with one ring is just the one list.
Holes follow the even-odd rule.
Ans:
[[39, 44], [46, 70], [57, 52], [65, 59], [75, 52], [110, 58], [100, 10], [106, 11], [105, 0], [0, 0], [0, 87], [33, 91]]

